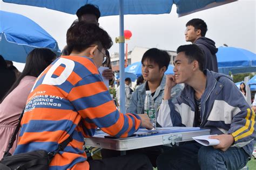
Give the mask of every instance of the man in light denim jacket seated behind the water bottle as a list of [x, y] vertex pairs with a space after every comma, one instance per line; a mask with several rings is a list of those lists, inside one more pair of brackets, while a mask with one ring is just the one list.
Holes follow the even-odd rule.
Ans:
[[[157, 111], [160, 107], [164, 96], [165, 75], [170, 63], [170, 56], [167, 52], [157, 48], [147, 50], [142, 57], [142, 75], [145, 83], [139, 86], [134, 92], [130, 100], [130, 106], [127, 112], [144, 114], [144, 100], [146, 90], [151, 90], [154, 99], [154, 107]], [[183, 89], [181, 84], [177, 84], [172, 91], [171, 96], [173, 102], [176, 100], [180, 91]]]

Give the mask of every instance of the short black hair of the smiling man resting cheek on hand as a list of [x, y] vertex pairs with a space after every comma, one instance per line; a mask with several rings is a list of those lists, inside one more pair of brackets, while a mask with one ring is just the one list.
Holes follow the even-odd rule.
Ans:
[[180, 52], [185, 53], [188, 63], [194, 60], [198, 61], [199, 69], [203, 72], [205, 63], [204, 53], [196, 44], [181, 45], [177, 49], [177, 54]]

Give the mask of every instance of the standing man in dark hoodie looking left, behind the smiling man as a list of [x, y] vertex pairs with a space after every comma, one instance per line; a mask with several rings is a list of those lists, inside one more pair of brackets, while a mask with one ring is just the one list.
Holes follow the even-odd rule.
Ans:
[[215, 42], [213, 40], [205, 37], [207, 25], [204, 20], [198, 18], [191, 19], [189, 22], [187, 22], [186, 27], [186, 41], [198, 45], [204, 52], [204, 69], [218, 73], [218, 62], [216, 56], [218, 48], [215, 47]]

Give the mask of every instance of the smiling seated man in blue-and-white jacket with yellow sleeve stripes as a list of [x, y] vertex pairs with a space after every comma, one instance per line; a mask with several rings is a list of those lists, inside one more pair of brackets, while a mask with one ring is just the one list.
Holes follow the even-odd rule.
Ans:
[[[255, 143], [255, 114], [231, 77], [203, 70], [204, 55], [197, 45], [177, 49], [174, 75], [166, 78], [158, 123], [210, 129], [220, 143], [202, 146], [196, 142], [174, 147], [161, 154], [161, 169], [240, 169], [250, 159]], [[170, 91], [185, 83], [177, 102]]]

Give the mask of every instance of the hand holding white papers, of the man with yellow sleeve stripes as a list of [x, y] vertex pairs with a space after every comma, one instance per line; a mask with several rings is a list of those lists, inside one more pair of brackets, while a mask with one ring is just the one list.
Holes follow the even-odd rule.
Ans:
[[217, 136], [211, 136], [210, 139], [219, 139], [220, 144], [213, 146], [216, 149], [221, 151], [226, 151], [233, 143], [234, 137], [231, 134], [220, 134]]

